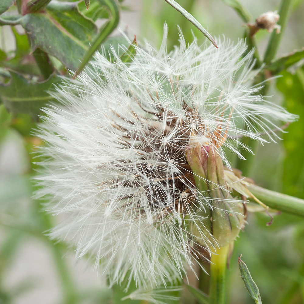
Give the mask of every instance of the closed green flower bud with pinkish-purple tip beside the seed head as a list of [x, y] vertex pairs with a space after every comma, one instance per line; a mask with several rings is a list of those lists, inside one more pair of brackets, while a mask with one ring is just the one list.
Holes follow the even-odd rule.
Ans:
[[217, 150], [211, 146], [198, 145], [189, 148], [186, 157], [194, 174], [196, 187], [209, 200], [209, 208], [198, 207], [196, 213], [202, 219], [199, 225], [191, 223], [191, 233], [203, 246], [227, 246], [235, 240], [244, 226], [243, 204], [228, 191], [223, 161]]

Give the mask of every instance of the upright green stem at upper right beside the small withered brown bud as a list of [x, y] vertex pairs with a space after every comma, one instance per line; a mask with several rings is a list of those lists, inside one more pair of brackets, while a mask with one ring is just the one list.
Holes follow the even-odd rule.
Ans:
[[278, 25], [281, 26], [281, 33], [277, 34], [275, 31], [272, 32], [271, 38], [268, 42], [268, 46], [264, 56], [264, 62], [269, 64], [272, 59], [275, 58], [275, 55], [278, 51], [278, 47], [282, 38], [282, 34], [285, 30], [289, 13], [292, 7], [292, 0], [282, 0], [281, 7], [279, 10], [280, 20]]

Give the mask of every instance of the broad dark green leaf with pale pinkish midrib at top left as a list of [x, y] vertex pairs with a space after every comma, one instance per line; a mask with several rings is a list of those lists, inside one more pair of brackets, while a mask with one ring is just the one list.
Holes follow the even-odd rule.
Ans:
[[75, 2], [52, 1], [45, 14], [27, 14], [20, 24], [26, 29], [31, 50], [40, 48], [76, 69], [96, 34], [95, 24], [83, 16]]

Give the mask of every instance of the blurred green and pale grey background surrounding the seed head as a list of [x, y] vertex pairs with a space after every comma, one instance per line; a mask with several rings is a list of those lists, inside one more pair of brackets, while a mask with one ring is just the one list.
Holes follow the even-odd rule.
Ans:
[[[220, 0], [180, 0], [212, 36], [225, 35], [237, 41], [244, 35], [244, 22]], [[228, 1], [227, 1], [228, 2]], [[241, 3], [252, 16], [279, 8], [279, 1]], [[304, 46], [304, 1], [293, 0], [292, 12], [278, 55]], [[160, 45], [163, 23], [169, 26], [168, 48], [178, 40], [179, 25], [188, 41], [192, 31], [199, 42], [206, 38], [190, 22], [163, 0], [125, 0], [119, 26], [130, 37], [145, 38]], [[18, 29], [18, 28], [17, 28]], [[19, 29], [20, 30], [20, 29]], [[0, 46], [14, 50], [15, 39], [9, 26], [0, 32]], [[271, 34], [257, 33], [257, 46], [263, 54]], [[23, 62], [24, 64], [24, 62]], [[248, 176], [257, 185], [304, 199], [304, 62], [283, 71], [270, 81], [269, 100], [299, 115], [290, 125], [283, 141], [258, 146]], [[1, 98], [1, 96], [0, 96]], [[0, 105], [0, 303], [55, 304], [109, 303], [105, 278], [97, 276], [86, 261], [75, 261], [73, 250], [54, 244], [43, 234], [56, 219], [40, 211], [33, 201], [30, 164], [33, 146], [30, 136], [35, 122], [26, 114], [12, 116]], [[231, 159], [236, 165], [236, 160]], [[227, 303], [253, 303], [244, 288], [237, 267], [243, 260], [257, 283], [263, 303], [304, 303], [304, 220], [297, 216], [275, 214], [271, 226], [265, 213], [249, 214], [244, 232], [235, 242], [228, 271]], [[127, 301], [123, 302], [126, 303]], [[131, 301], [130, 301], [131, 302]], [[184, 303], [195, 300], [187, 292]], [[116, 303], [116, 300], [115, 300]], [[118, 302], [117, 302], [118, 303]]]

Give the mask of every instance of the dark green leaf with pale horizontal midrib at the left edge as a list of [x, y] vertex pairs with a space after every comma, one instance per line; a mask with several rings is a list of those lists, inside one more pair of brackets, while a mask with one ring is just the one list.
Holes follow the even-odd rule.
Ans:
[[7, 85], [0, 85], [1, 100], [7, 109], [14, 113], [26, 113], [35, 117], [47, 103], [54, 101], [49, 91], [59, 84], [61, 78], [51, 75], [43, 82], [29, 82], [23, 76], [11, 72], [11, 81]]

